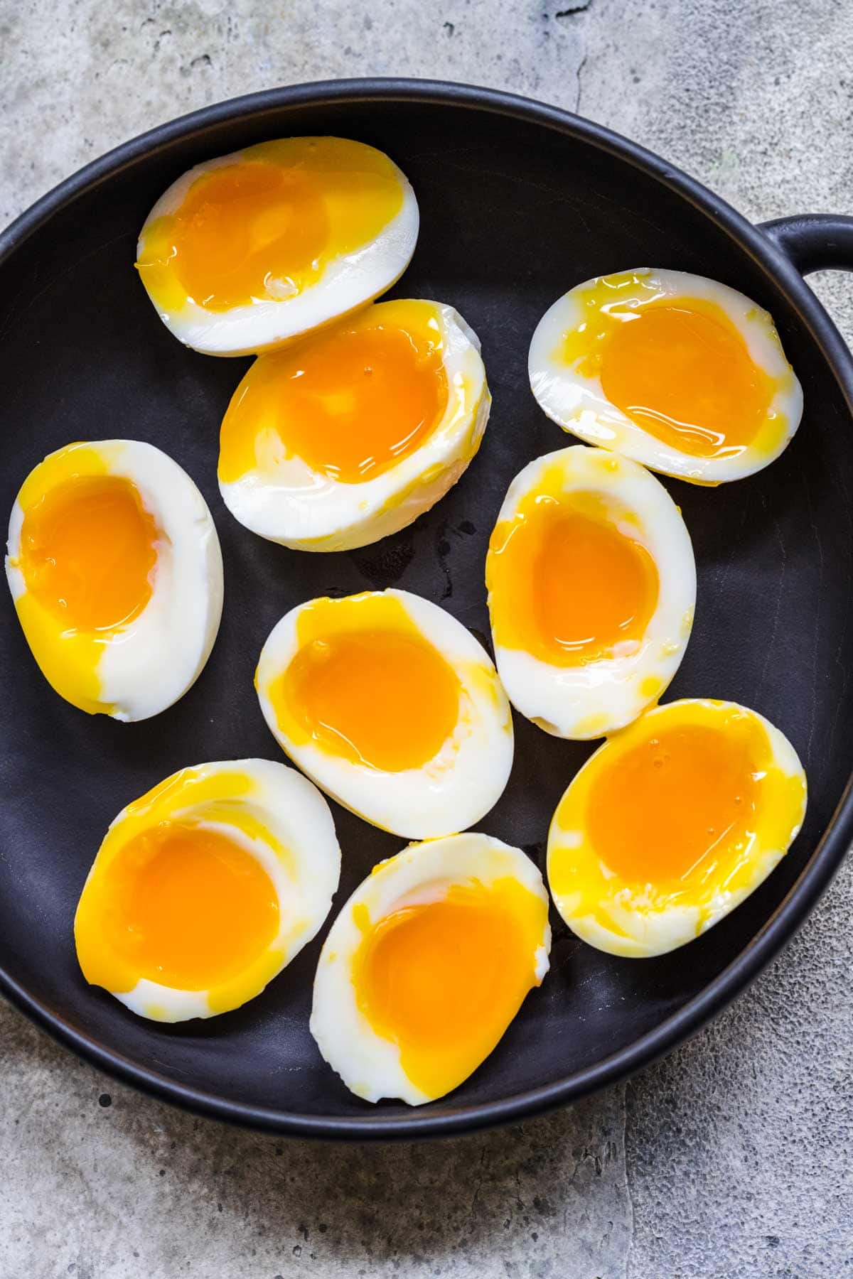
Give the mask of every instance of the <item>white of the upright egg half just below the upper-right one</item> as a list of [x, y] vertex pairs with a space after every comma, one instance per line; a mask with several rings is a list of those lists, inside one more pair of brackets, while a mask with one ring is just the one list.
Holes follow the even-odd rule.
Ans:
[[512, 521], [522, 500], [538, 491], [542, 476], [555, 469], [563, 477], [564, 494], [600, 492], [636, 517], [624, 532], [650, 553], [660, 583], [657, 605], [641, 641], [624, 641], [611, 656], [574, 666], [552, 665], [523, 648], [508, 648], [492, 628], [497, 673], [515, 710], [546, 733], [586, 741], [630, 723], [673, 679], [693, 625], [696, 563], [680, 512], [660, 481], [605, 449], [574, 445], [528, 463], [510, 483], [497, 522]]

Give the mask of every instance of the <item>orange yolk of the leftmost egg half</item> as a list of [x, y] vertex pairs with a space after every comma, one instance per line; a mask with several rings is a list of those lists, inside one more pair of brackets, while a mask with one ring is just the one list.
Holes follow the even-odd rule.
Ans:
[[134, 483], [75, 476], [28, 508], [19, 564], [31, 592], [69, 631], [132, 622], [151, 599], [157, 527]]

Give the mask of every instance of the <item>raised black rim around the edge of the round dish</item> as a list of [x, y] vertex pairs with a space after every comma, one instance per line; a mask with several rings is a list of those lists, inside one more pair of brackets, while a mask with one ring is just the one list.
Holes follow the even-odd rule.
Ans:
[[[481, 110], [577, 138], [634, 165], [711, 217], [774, 279], [820, 348], [826, 359], [827, 373], [835, 376], [853, 414], [853, 356], [801, 272], [769, 235], [710, 188], [655, 152], [583, 116], [503, 90], [450, 81], [368, 77], [289, 84], [201, 107], [156, 125], [107, 151], [37, 200], [0, 231], [0, 265], [31, 235], [45, 228], [54, 214], [83, 193], [107, 182], [134, 161], [156, 153], [171, 142], [187, 139], [193, 133], [202, 134], [214, 125], [240, 118], [260, 118], [265, 113], [272, 114], [286, 107], [341, 102], [353, 105], [419, 102], [425, 106]], [[364, 1115], [324, 1115], [248, 1105], [210, 1091], [187, 1087], [157, 1071], [139, 1065], [115, 1049], [106, 1048], [93, 1036], [72, 1026], [61, 1012], [33, 996], [5, 971], [3, 964], [0, 964], [0, 991], [37, 1026], [100, 1071], [159, 1100], [180, 1105], [208, 1118], [283, 1136], [330, 1140], [413, 1140], [473, 1132], [517, 1123], [533, 1114], [578, 1101], [600, 1088], [628, 1078], [696, 1033], [742, 994], [790, 941], [831, 883], [850, 843], [853, 843], [853, 775], [844, 787], [824, 835], [784, 899], [732, 963], [677, 1013], [616, 1053], [559, 1081], [495, 1101], [476, 1102], [455, 1110], [445, 1108], [441, 1114], [431, 1113], [428, 1109], [413, 1109], [411, 1114], [390, 1115], [377, 1108]]]

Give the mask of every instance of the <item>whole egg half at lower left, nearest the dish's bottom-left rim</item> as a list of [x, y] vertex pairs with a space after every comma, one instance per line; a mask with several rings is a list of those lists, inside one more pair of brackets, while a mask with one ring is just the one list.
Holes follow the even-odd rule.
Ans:
[[239, 1008], [329, 913], [329, 804], [270, 760], [173, 774], [110, 826], [74, 920], [83, 976], [160, 1022]]

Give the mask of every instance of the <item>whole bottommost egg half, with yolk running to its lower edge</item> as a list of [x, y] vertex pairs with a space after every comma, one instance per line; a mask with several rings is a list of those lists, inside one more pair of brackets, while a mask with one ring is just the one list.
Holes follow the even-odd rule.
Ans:
[[432, 1101], [489, 1056], [550, 946], [542, 876], [518, 848], [473, 833], [411, 844], [333, 923], [311, 1032], [366, 1101]]

